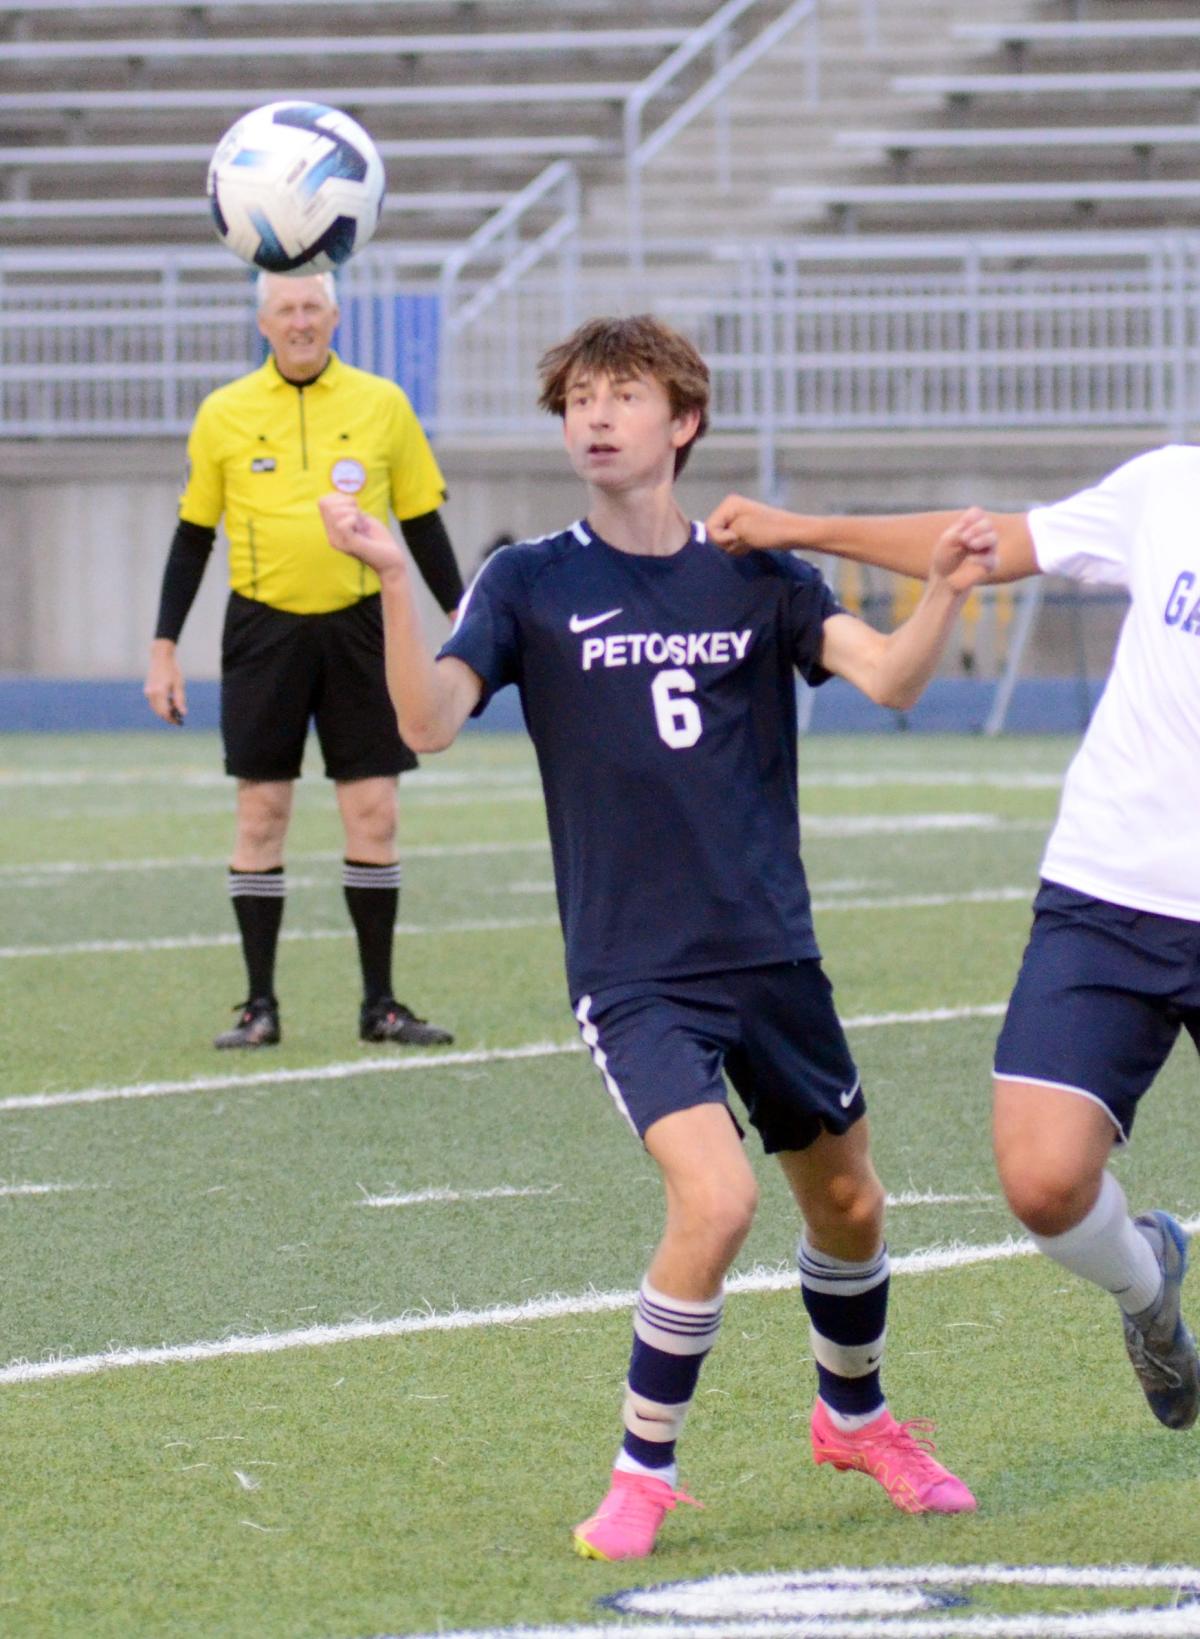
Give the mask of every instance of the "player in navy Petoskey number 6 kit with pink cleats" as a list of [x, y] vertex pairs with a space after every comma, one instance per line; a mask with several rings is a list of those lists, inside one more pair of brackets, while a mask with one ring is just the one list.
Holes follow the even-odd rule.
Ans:
[[680, 511], [674, 480], [708, 406], [689, 341], [649, 316], [593, 320], [539, 372], [587, 516], [489, 557], [436, 659], [389, 531], [354, 497], [330, 495], [321, 511], [333, 544], [380, 577], [410, 744], [449, 746], [497, 688], [518, 685], [575, 1018], [662, 1172], [666, 1229], [638, 1296], [625, 1439], [577, 1550], [643, 1557], [684, 1498], [675, 1441], [756, 1206], [723, 1070], [803, 1218], [816, 1462], [870, 1473], [910, 1513], [970, 1510], [880, 1388], [884, 1193], [800, 864], [793, 672], [813, 683], [836, 672], [910, 705], [990, 562], [992, 531], [972, 513], [951, 523], [920, 606], [882, 636], [810, 565], [728, 557]]

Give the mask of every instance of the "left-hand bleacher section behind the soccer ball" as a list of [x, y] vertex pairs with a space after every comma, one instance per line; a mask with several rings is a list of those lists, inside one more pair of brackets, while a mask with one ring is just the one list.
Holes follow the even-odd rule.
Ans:
[[369, 125], [395, 236], [449, 249], [548, 161], [613, 156], [623, 103], [711, 8], [667, 0], [651, 23], [618, 3], [605, 26], [543, 0], [326, 10], [284, 33], [277, 0], [0, 8], [0, 247], [205, 243], [216, 139], [249, 107], [311, 97]]

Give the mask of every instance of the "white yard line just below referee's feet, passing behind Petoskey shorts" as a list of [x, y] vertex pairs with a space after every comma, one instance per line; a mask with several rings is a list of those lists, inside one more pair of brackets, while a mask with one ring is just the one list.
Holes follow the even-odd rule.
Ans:
[[[892, 1024], [948, 1024], [957, 1019], [998, 1018], [1005, 1001], [987, 1001], [964, 1008], [920, 1008], [915, 1013], [861, 1013], [843, 1019], [846, 1029], [880, 1029]], [[259, 1070], [248, 1075], [197, 1075], [180, 1082], [126, 1082], [116, 1087], [84, 1087], [62, 1093], [16, 1093], [0, 1098], [0, 1113], [10, 1110], [57, 1110], [62, 1105], [100, 1105], [130, 1098], [172, 1098], [185, 1093], [225, 1093], [254, 1087], [285, 1087], [295, 1082], [344, 1082], [356, 1075], [405, 1075], [420, 1070], [456, 1069], [474, 1064], [505, 1064], [515, 1059], [548, 1059], [556, 1054], [582, 1052], [575, 1037], [561, 1042], [530, 1042], [523, 1047], [490, 1047], [472, 1052], [425, 1052], [389, 1059], [349, 1059], [313, 1064], [290, 1070]]]

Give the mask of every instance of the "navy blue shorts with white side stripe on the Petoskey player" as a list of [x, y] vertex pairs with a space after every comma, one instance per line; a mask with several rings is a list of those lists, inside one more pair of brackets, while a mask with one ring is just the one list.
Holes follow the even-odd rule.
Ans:
[[575, 1018], [639, 1137], [675, 1110], [726, 1103], [721, 1072], [767, 1154], [846, 1133], [867, 1108], [815, 959], [580, 997]]

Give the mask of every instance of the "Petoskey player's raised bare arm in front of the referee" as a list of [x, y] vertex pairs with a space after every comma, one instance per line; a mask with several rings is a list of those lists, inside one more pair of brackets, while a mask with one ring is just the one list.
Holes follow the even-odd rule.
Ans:
[[413, 598], [408, 561], [392, 531], [364, 513], [352, 495], [323, 495], [318, 506], [330, 546], [379, 575], [387, 692], [400, 734], [413, 751], [444, 751], [479, 703], [480, 679], [452, 656], [434, 659]]

